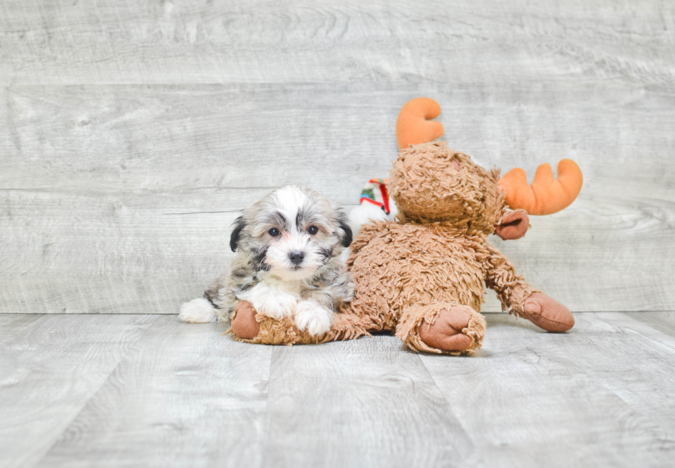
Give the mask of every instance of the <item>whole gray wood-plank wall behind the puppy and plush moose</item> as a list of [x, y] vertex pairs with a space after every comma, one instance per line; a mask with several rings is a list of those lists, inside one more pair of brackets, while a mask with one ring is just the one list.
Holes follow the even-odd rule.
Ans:
[[0, 311], [175, 313], [271, 189], [355, 204], [417, 96], [484, 164], [579, 162], [495, 240], [533, 284], [675, 308], [672, 1], [3, 0]]

